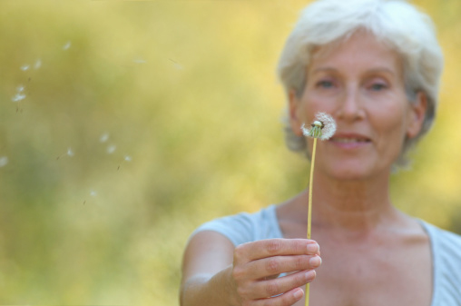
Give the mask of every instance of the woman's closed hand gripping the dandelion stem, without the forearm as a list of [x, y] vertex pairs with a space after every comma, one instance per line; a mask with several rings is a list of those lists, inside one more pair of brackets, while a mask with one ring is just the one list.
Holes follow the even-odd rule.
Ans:
[[[293, 305], [299, 288], [313, 281], [321, 259], [319, 244], [307, 239], [268, 239], [234, 251], [232, 281], [239, 305]], [[287, 275], [279, 277], [282, 273]]]

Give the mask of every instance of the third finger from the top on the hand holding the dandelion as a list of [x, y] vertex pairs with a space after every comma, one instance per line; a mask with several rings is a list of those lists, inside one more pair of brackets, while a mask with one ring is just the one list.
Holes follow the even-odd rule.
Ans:
[[250, 299], [263, 299], [277, 297], [280, 294], [285, 294], [295, 288], [304, 286], [306, 283], [313, 281], [316, 277], [316, 271], [299, 271], [287, 276], [280, 277], [277, 280], [257, 281], [253, 283], [249, 291], [251, 292]]

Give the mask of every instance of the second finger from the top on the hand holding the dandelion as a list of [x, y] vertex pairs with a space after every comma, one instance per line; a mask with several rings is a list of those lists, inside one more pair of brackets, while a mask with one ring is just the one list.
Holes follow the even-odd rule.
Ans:
[[246, 264], [248, 275], [259, 280], [280, 273], [319, 268], [319, 255], [274, 256]]

